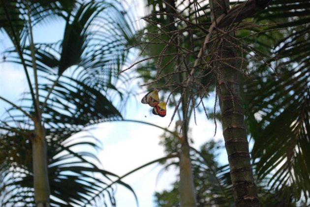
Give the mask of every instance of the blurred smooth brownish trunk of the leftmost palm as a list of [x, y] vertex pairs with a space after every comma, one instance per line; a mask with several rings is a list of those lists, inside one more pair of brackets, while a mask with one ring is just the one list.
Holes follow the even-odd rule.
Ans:
[[50, 185], [47, 170], [47, 145], [45, 129], [40, 122], [35, 124], [32, 144], [34, 200], [37, 207], [50, 206]]

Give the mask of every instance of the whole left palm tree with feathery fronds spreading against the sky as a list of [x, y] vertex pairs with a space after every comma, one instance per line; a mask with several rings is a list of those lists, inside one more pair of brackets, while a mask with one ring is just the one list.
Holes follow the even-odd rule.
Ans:
[[[35, 43], [32, 28], [52, 17], [65, 22], [62, 41]], [[129, 15], [117, 2], [1, 0], [0, 18], [14, 45], [3, 61], [21, 64], [29, 86], [22, 105], [0, 97], [11, 105], [0, 123], [1, 206], [83, 205], [93, 195], [115, 206], [109, 182], [117, 176], [91, 160], [96, 153], [73, 150], [98, 142], [70, 137], [122, 118], [109, 96], [124, 93], [115, 77], [133, 36]]]

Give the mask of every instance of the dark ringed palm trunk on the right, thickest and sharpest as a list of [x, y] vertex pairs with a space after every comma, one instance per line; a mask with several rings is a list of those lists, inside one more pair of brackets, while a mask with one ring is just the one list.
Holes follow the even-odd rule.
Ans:
[[[229, 0], [211, 0], [212, 21], [226, 12]], [[240, 96], [240, 78], [237, 71], [237, 51], [226, 35], [213, 51], [216, 61], [217, 86], [225, 148], [228, 154], [230, 176], [236, 207], [259, 207], [256, 185], [250, 164], [244, 110]]]

